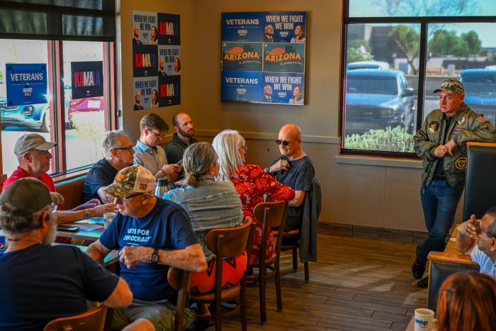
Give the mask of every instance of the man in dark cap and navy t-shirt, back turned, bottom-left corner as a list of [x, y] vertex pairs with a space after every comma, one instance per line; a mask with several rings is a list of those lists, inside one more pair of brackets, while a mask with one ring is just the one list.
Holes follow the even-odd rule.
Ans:
[[38, 179], [19, 179], [0, 196], [0, 330], [43, 330], [55, 318], [84, 313], [86, 299], [127, 307], [128, 284], [71, 245], [50, 246], [63, 202]]

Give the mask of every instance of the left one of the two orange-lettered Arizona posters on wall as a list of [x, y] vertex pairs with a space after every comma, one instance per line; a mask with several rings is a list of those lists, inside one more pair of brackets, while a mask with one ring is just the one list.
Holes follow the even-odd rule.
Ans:
[[261, 72], [261, 43], [222, 43], [222, 70]]

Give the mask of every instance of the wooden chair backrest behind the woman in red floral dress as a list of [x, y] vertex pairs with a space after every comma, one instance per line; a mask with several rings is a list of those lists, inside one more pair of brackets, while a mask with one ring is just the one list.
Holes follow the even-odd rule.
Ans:
[[[283, 229], [286, 225], [286, 211], [288, 210], [288, 201], [262, 202], [253, 209], [253, 216], [262, 223], [261, 230], [261, 252], [266, 252], [266, 237], [269, 228], [279, 228], [274, 252], [278, 255], [281, 251], [281, 242], [283, 242]], [[262, 262], [264, 257], [260, 258]]]

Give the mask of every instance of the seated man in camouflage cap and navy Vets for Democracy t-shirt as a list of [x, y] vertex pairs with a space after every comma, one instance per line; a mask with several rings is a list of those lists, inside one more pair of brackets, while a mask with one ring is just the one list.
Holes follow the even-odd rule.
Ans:
[[[133, 292], [129, 308], [114, 310], [113, 329], [173, 330], [177, 291], [167, 282], [169, 266], [196, 272], [207, 268], [186, 211], [156, 198], [154, 188], [153, 174], [133, 165], [104, 189], [115, 197], [119, 213], [87, 254], [102, 261], [111, 249], [119, 249], [120, 275]], [[193, 318], [186, 309], [184, 325]]]

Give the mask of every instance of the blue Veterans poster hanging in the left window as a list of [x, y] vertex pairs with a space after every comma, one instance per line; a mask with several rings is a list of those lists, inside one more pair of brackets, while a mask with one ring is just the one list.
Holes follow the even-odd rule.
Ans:
[[47, 103], [47, 64], [6, 64], [7, 106]]

